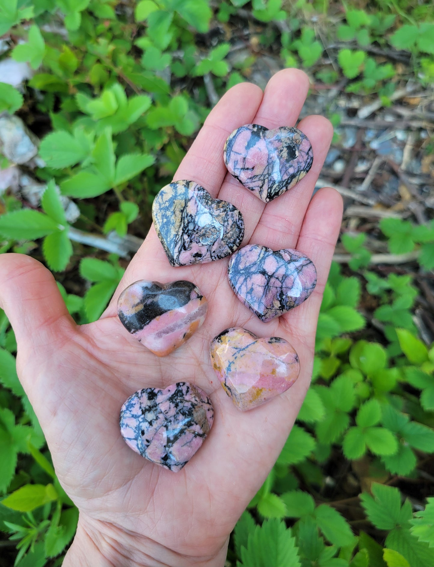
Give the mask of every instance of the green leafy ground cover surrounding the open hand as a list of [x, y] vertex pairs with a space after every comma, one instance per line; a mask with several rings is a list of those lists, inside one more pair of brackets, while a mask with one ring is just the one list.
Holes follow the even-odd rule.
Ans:
[[[304, 67], [315, 83], [346, 81], [347, 92], [382, 104], [404, 78], [396, 60], [406, 54], [385, 61], [379, 49], [407, 52], [417, 83], [434, 79], [433, 14], [426, 2], [349, 2], [338, 18], [327, 13], [327, 2], [306, 0], [290, 10], [281, 0], [118, 4], [0, 0], [0, 35], [10, 37], [5, 57], [35, 71], [22, 91], [0, 83], [0, 112], [19, 111], [25, 120], [34, 113], [46, 119], [44, 133], [51, 124], [33, 174], [47, 185], [40, 206], [30, 209], [13, 195], [2, 196], [0, 253], [43, 259], [68, 290], [68, 274], [78, 269], [81, 290], [58, 287], [79, 323], [99, 318], [124, 269], [116, 256], [71, 242], [69, 225], [99, 239], [123, 238], [136, 227], [143, 236], [154, 194], [175, 174], [208, 115], [211, 87], [220, 96], [250, 80], [256, 58], [268, 48], [280, 51], [283, 64]], [[67, 40], [47, 31], [54, 17]], [[224, 23], [225, 36], [214, 34], [214, 24], [210, 29], [215, 18]], [[244, 59], [229, 34], [240, 18], [251, 40]], [[331, 119], [339, 124], [336, 113]], [[1, 155], [0, 164], [9, 166]], [[75, 223], [66, 220], [65, 197], [77, 200]], [[410, 255], [421, 270], [434, 268], [433, 221], [385, 218], [378, 228], [390, 253]], [[232, 565], [434, 564], [433, 498], [413, 511], [397, 488], [378, 483], [372, 496], [361, 495], [362, 508], [352, 503], [347, 509], [332, 496], [339, 492], [331, 484], [336, 466], [348, 471], [338, 484], [356, 495], [372, 479], [387, 483], [397, 475], [414, 482], [420, 463], [434, 453], [434, 349], [419, 338], [413, 319], [418, 287], [410, 275], [383, 276], [366, 243], [364, 232], [342, 235], [349, 270], [331, 268], [313, 384], [250, 503], [251, 514], [243, 513], [235, 527]], [[0, 529], [16, 542], [17, 567], [43, 566], [54, 557], [60, 564], [78, 511], [55, 476], [18, 380], [15, 353], [14, 333], [0, 311]], [[348, 520], [363, 517], [373, 524], [373, 537], [357, 533], [357, 523], [353, 533]]]

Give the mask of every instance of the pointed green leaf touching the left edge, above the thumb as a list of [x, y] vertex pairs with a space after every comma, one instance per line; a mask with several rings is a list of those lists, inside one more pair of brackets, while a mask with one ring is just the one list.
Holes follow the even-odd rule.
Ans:
[[0, 217], [0, 234], [14, 240], [34, 240], [59, 230], [58, 224], [38, 211], [23, 209]]

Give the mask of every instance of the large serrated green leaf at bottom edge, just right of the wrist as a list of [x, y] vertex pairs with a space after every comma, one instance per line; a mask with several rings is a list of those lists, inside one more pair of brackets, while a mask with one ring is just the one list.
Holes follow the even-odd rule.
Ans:
[[241, 548], [241, 567], [300, 567], [296, 540], [284, 522], [272, 518], [256, 526]]

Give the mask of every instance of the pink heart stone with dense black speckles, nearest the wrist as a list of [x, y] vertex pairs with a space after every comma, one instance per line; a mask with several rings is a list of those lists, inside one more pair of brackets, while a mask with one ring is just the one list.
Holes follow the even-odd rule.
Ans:
[[165, 390], [134, 392], [122, 406], [119, 424], [133, 451], [178, 472], [200, 448], [213, 420], [214, 409], [205, 392], [177, 382]]

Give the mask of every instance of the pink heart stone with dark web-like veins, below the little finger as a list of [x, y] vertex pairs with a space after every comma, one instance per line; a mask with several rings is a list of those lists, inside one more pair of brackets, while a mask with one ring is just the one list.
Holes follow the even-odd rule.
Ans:
[[227, 276], [238, 299], [262, 321], [306, 301], [317, 283], [317, 270], [302, 252], [292, 248], [273, 252], [256, 244], [235, 252]]

